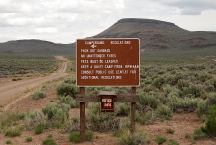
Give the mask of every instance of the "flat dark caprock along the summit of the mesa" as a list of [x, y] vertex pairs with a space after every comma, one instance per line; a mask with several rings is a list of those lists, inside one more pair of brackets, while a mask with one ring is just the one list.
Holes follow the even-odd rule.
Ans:
[[117, 23], [146, 23], [146, 24], [166, 24], [170, 26], [176, 26], [174, 23], [160, 21], [160, 20], [153, 20], [153, 19], [139, 19], [139, 18], [123, 18], [120, 19]]

